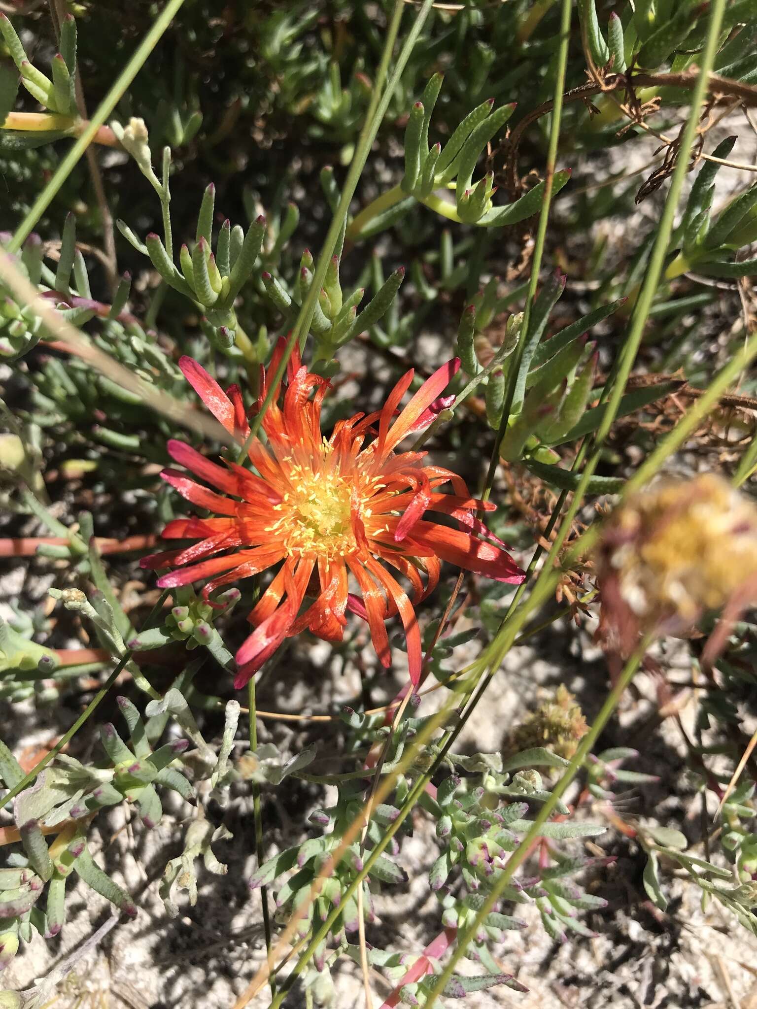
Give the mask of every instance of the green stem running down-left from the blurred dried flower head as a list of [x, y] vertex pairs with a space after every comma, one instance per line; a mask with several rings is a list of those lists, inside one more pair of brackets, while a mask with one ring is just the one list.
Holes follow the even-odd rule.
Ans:
[[516, 869], [518, 869], [521, 863], [525, 861], [529, 852], [531, 851], [533, 843], [537, 839], [537, 837], [540, 836], [539, 831], [541, 830], [542, 826], [552, 815], [552, 812], [555, 806], [557, 805], [558, 801], [567, 791], [568, 786], [570, 785], [570, 783], [572, 782], [573, 778], [576, 776], [578, 771], [581, 769], [581, 767], [583, 767], [583, 762], [585, 761], [588, 754], [591, 752], [591, 748], [597, 742], [605, 725], [607, 725], [608, 721], [610, 720], [613, 712], [618, 706], [621, 697], [623, 696], [626, 687], [629, 685], [637, 669], [639, 668], [639, 664], [641, 660], [644, 658], [644, 653], [647, 650], [648, 644], [649, 642], [645, 639], [639, 646], [639, 648], [636, 650], [636, 652], [634, 652], [634, 654], [626, 663], [625, 669], [621, 673], [618, 682], [608, 695], [607, 700], [602, 705], [602, 709], [598, 714], [597, 718], [594, 719], [593, 724], [591, 725], [589, 731], [586, 733], [586, 735], [583, 737], [580, 744], [578, 745], [578, 749], [575, 751], [575, 754], [573, 755], [573, 758], [570, 761], [570, 765], [567, 768], [565, 768], [562, 777], [557, 782], [555, 787], [552, 789], [549, 798], [542, 805], [528, 833], [525, 835], [525, 837], [523, 837], [518, 848], [513, 852], [513, 854], [508, 859], [508, 864], [505, 867], [502, 876], [498, 878], [497, 882], [492, 887], [490, 894], [488, 895], [485, 901], [483, 902], [483, 905], [476, 913], [475, 918], [473, 918], [470, 925], [468, 925], [468, 927], [464, 931], [458, 933], [454, 951], [449, 962], [447, 963], [446, 967], [439, 975], [438, 980], [434, 984], [434, 987], [427, 998], [427, 1001], [430, 1005], [433, 1005], [436, 997], [441, 994], [442, 989], [445, 987], [450, 977], [452, 976], [452, 973], [455, 967], [457, 966], [458, 961], [465, 955], [468, 942], [470, 942], [471, 939], [474, 938], [475, 933], [481, 926], [481, 922], [483, 921], [485, 916], [492, 912], [495, 904], [500, 899], [500, 895], [502, 894], [503, 890], [512, 880]]

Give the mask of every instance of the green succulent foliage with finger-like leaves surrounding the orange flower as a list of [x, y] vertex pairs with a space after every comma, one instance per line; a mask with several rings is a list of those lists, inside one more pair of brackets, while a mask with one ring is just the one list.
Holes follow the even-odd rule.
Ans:
[[[560, 592], [574, 616], [586, 608], [601, 611], [590, 569], [578, 563], [583, 555], [566, 557], [561, 549], [576, 517], [591, 521], [590, 510], [578, 512], [582, 496], [623, 494], [636, 460], [650, 456], [671, 417], [677, 422], [689, 402], [708, 396], [719, 363], [741, 352], [738, 285], [757, 273], [751, 248], [757, 242], [757, 187], [740, 172], [734, 175], [733, 162], [721, 174], [737, 137], [716, 144], [712, 120], [699, 118], [696, 109], [701, 149], [689, 149], [682, 122], [694, 68], [704, 65], [711, 40], [709, 66], [726, 79], [714, 92], [718, 108], [712, 118], [735, 98], [750, 101], [748, 88], [757, 83], [753, 0], [610, 6], [618, 10], [580, 0], [566, 36], [560, 29], [564, 4], [514, 0], [454, 11], [426, 4], [426, 20], [393, 80], [418, 5], [407, 5], [395, 54], [387, 52], [383, 63], [385, 40], [394, 39], [390, 4], [336, 0], [326, 14], [305, 3], [254, 9], [232, 3], [220, 13], [205, 0], [187, 4], [137, 68], [116, 119], [96, 137], [92, 152], [99, 174], [91, 176], [91, 166], [81, 163], [46, 216], [34, 206], [59, 153], [65, 156], [59, 141], [87, 126], [77, 102], [77, 74], [94, 115], [126, 62], [124, 44], [128, 48], [144, 35], [148, 15], [77, 5], [64, 18], [60, 37], [41, 12], [14, 16], [13, 25], [0, 16], [10, 58], [0, 66], [0, 125], [7, 123], [0, 134], [7, 188], [3, 250], [13, 249], [12, 265], [61, 319], [83, 332], [91, 348], [147, 383], [158, 401], [169, 403], [170, 397], [171, 404], [183, 401], [187, 408], [181, 420], [170, 410], [164, 415], [147, 409], [140, 395], [101, 373], [86, 354], [69, 353], [10, 278], [0, 283], [0, 357], [10, 371], [3, 379], [7, 431], [0, 435], [4, 556], [34, 550], [34, 564], [51, 574], [50, 595], [60, 602], [50, 610], [35, 598], [29, 608], [24, 595], [23, 606], [0, 621], [0, 696], [11, 706], [11, 721], [32, 708], [47, 705], [49, 711], [62, 697], [67, 705], [57, 714], [71, 720], [71, 711], [84, 712], [74, 739], [67, 740], [71, 748], [32, 779], [13, 756], [16, 748], [0, 743], [0, 776], [8, 789], [18, 790], [12, 807], [17, 839], [0, 869], [0, 971], [32, 931], [50, 938], [66, 926], [70, 877], [80, 877], [120, 912], [136, 913], [132, 897], [109, 868], [100, 867], [99, 836], [107, 836], [109, 810], [133, 806], [137, 830], [151, 830], [160, 820], [171, 821], [164, 815], [164, 807], [173, 815], [169, 803], [192, 806], [159, 886], [167, 914], [176, 917], [184, 900], [201, 900], [204, 870], [211, 886], [227, 872], [221, 846], [232, 836], [216, 805], [235, 803], [250, 789], [262, 857], [249, 885], [253, 891], [272, 889], [278, 925], [305, 911], [297, 923], [303, 952], [291, 977], [280, 979], [283, 987], [273, 996], [277, 1007], [297, 978], [308, 999], [325, 1002], [338, 958], [346, 955], [361, 965], [363, 954], [401, 986], [395, 1001], [430, 1006], [469, 996], [473, 1004], [476, 992], [497, 985], [524, 990], [498, 964], [507, 932], [524, 925], [521, 914], [534, 920], [538, 914], [555, 941], [593, 934], [586, 915], [603, 910], [606, 901], [576, 879], [590, 872], [602, 890], [601, 870], [612, 860], [589, 859], [579, 850], [582, 839], [607, 827], [584, 819], [582, 803], [590, 796], [603, 809], [618, 785], [643, 789], [659, 780], [667, 787], [666, 769], [659, 777], [638, 770], [644, 758], [622, 746], [572, 766], [546, 742], [537, 746], [539, 740], [504, 756], [457, 753], [453, 744], [480, 697], [477, 686], [489, 682], [481, 677], [509, 675], [499, 650], [503, 641], [507, 650], [513, 641], [521, 643], [517, 634], [532, 633], [528, 607], [534, 598], [536, 606], [549, 597], [551, 589], [542, 592], [549, 578], [555, 579], [552, 589], [563, 578]], [[723, 23], [711, 39], [710, 16], [719, 7]], [[116, 39], [112, 45], [103, 45], [106, 35]], [[338, 217], [336, 245], [322, 256], [345, 169], [362, 149], [361, 131], [388, 81], [387, 115], [373, 123], [375, 140], [349, 213]], [[561, 109], [555, 106], [560, 94]], [[626, 111], [614, 101], [621, 98]], [[652, 128], [676, 139], [664, 141], [664, 162], [639, 189], [636, 158], [644, 163], [657, 142], [640, 128], [652, 111]], [[559, 139], [556, 157], [550, 134]], [[104, 151], [103, 142], [115, 149]], [[669, 176], [676, 158], [690, 165], [689, 195], [662, 248], [664, 275], [647, 299], [663, 234], [662, 204], [655, 201], [667, 200], [674, 189]], [[731, 188], [724, 201], [726, 175]], [[638, 215], [634, 195], [649, 201]], [[117, 226], [115, 257], [110, 217]], [[34, 230], [23, 232], [28, 237], [17, 248], [12, 232], [24, 218], [24, 227], [31, 222]], [[322, 279], [314, 291], [317, 276]], [[313, 300], [306, 332], [302, 310]], [[344, 606], [328, 609], [328, 620], [342, 629], [332, 637], [343, 631], [343, 640], [329, 646], [330, 661], [345, 674], [347, 689], [359, 678], [363, 694], [341, 711], [340, 720], [332, 716], [320, 726], [329, 734], [326, 746], [318, 722], [298, 726], [296, 739], [275, 724], [260, 742], [254, 713], [247, 732], [239, 703], [229, 700], [231, 646], [249, 633], [244, 615], [266, 587], [259, 574], [241, 588], [211, 592], [207, 600], [189, 586], [173, 589], [149, 627], [140, 630], [147, 576], [135, 572], [130, 559], [110, 556], [114, 542], [117, 550], [125, 537], [139, 541], [140, 552], [159, 550], [155, 534], [175, 518], [175, 509], [187, 514], [173, 494], [158, 489], [169, 458], [166, 443], [188, 437], [182, 423], [194, 416], [179, 358], [198, 360], [223, 389], [249, 389], [244, 400], [256, 403], [257, 411], [260, 366], [271, 360], [279, 333], [295, 328], [302, 360], [333, 386], [333, 398], [324, 404], [326, 432], [359, 411], [369, 434], [382, 423], [371, 413], [381, 410], [403, 373], [416, 369], [411, 395], [439, 363], [459, 356], [462, 372], [432, 405], [433, 423], [403, 450], [433, 453], [439, 467], [464, 472], [470, 492], [498, 504], [495, 515], [481, 504], [465, 531], [480, 533], [482, 555], [502, 542], [499, 537], [513, 542], [524, 568], [533, 561], [538, 588], [525, 600], [523, 592], [532, 589], [519, 588], [514, 599], [514, 586], [475, 579], [457, 586], [458, 596], [450, 565], [442, 568], [438, 595], [418, 608], [423, 675], [444, 698], [438, 718], [420, 710], [420, 695], [411, 697], [396, 722], [404, 695], [386, 712], [368, 708], [369, 695], [370, 704], [384, 704], [396, 687], [388, 688], [386, 674], [366, 662], [366, 632], [355, 614]], [[648, 380], [620, 388], [619, 375], [624, 380], [631, 368], [633, 332], [640, 337], [640, 346], [633, 347], [634, 354], [639, 350], [635, 370]], [[357, 393], [346, 384], [353, 380]], [[672, 400], [676, 393], [681, 396]], [[745, 367], [738, 394], [754, 393]], [[735, 412], [740, 402], [738, 396], [731, 401]], [[753, 437], [751, 414], [743, 410], [721, 421], [723, 465], [750, 472], [753, 449], [742, 450]], [[720, 438], [717, 425], [715, 430], [713, 438]], [[217, 454], [207, 442], [194, 444], [209, 458]], [[298, 450], [269, 444], [275, 452]], [[687, 450], [701, 451], [694, 456], [697, 467], [709, 464], [705, 452], [713, 444], [702, 445], [693, 432]], [[238, 448], [223, 452], [224, 465], [230, 464]], [[586, 458], [594, 457], [601, 468], [584, 478]], [[509, 464], [509, 484], [497, 479], [501, 459]], [[545, 501], [557, 496], [553, 488], [560, 493], [551, 513]], [[409, 489], [422, 500], [428, 488]], [[462, 497], [468, 491], [455, 486], [454, 492]], [[568, 494], [574, 495], [574, 510], [565, 526], [557, 525]], [[232, 496], [242, 511], [255, 507]], [[89, 511], [77, 514], [81, 508]], [[215, 513], [200, 506], [196, 513], [193, 521], [220, 528], [212, 525]], [[485, 531], [479, 519], [486, 521]], [[450, 513], [449, 524], [457, 521]], [[27, 547], [26, 538], [40, 531], [43, 542]], [[547, 547], [547, 541], [555, 543], [541, 566], [541, 546], [530, 553], [537, 538]], [[107, 551], [101, 550], [103, 541]], [[194, 549], [184, 541], [175, 545]], [[207, 557], [227, 545], [219, 540]], [[245, 549], [243, 535], [239, 545]], [[410, 567], [397, 577], [415, 589], [419, 575]], [[289, 593], [289, 585], [284, 590]], [[306, 598], [303, 610], [312, 601]], [[442, 619], [444, 601], [450, 612]], [[352, 608], [352, 600], [346, 605]], [[391, 608], [388, 619], [397, 615]], [[458, 625], [458, 618], [467, 623]], [[702, 626], [711, 633], [712, 627]], [[741, 756], [735, 741], [744, 742], [737, 731], [754, 686], [753, 636], [752, 624], [735, 627], [718, 665], [723, 682], [702, 686], [697, 698], [697, 739], [688, 759], [700, 789], [719, 797]], [[72, 640], [96, 648], [97, 661], [70, 665], [66, 650]], [[318, 678], [303, 677], [307, 704], [311, 680], [320, 683], [333, 672], [320, 657], [316, 661], [311, 644], [307, 631], [289, 642], [293, 666], [311, 660], [318, 665]], [[400, 672], [402, 647], [392, 649]], [[695, 644], [690, 647], [694, 662], [700, 656]], [[114, 667], [121, 675], [124, 695], [117, 703], [128, 735], [108, 715], [93, 716], [112, 685], [106, 677]], [[263, 673], [273, 668], [269, 660]], [[280, 671], [285, 691], [291, 670]], [[272, 683], [278, 678], [263, 681], [262, 689], [281, 699]], [[143, 713], [140, 694], [149, 698]], [[94, 706], [88, 705], [90, 696]], [[290, 698], [284, 698], [287, 706]], [[19, 702], [27, 707], [16, 707]], [[313, 700], [314, 708], [324, 705]], [[254, 695], [249, 706], [254, 712]], [[500, 727], [510, 739], [515, 726]], [[712, 772], [710, 759], [724, 755], [728, 771], [721, 773], [719, 763], [718, 773]], [[330, 761], [337, 757], [334, 770]], [[557, 782], [568, 772], [580, 776], [582, 788], [563, 797]], [[373, 785], [386, 785], [386, 794], [363, 820]], [[651, 815], [628, 826], [646, 854], [642, 882], [658, 907], [668, 905], [669, 867], [676, 865], [704, 899], [715, 898], [757, 934], [753, 789], [745, 778], [728, 795], [707, 859], [691, 853], [677, 827]], [[282, 795], [298, 809], [305, 802], [330, 804], [308, 823], [295, 823], [295, 836], [276, 851], [267, 817]], [[188, 807], [180, 808], [186, 815]], [[534, 820], [545, 809], [549, 817], [534, 840]], [[468, 957], [472, 975], [446, 971], [433, 956], [424, 963], [394, 948], [391, 938], [382, 948], [374, 942], [377, 929], [368, 948], [360, 949], [359, 907], [364, 922], [376, 924], [375, 894], [391, 899], [407, 888], [411, 868], [417, 871], [405, 845], [413, 814], [436, 834], [438, 850], [426, 853], [428, 890], [439, 901], [442, 936], [456, 936], [443, 951], [451, 945], [453, 958]], [[527, 848], [534, 857], [511, 879]], [[238, 860], [227, 861], [228, 872], [238, 873]], [[318, 892], [311, 901], [314, 885]], [[484, 903], [498, 893], [484, 914]], [[404, 983], [415, 967], [422, 972]], [[13, 1005], [12, 995], [0, 993], [0, 1004]]]

